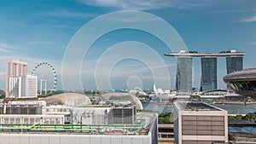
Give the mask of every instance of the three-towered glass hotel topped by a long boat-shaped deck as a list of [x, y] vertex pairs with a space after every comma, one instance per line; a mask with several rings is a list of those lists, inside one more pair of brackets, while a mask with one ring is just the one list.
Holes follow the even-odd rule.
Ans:
[[175, 56], [177, 60], [176, 89], [192, 90], [193, 57], [201, 57], [201, 91], [217, 89], [217, 57], [226, 57], [227, 73], [242, 70], [243, 52], [222, 51], [220, 53], [198, 53], [196, 51], [181, 50], [169, 53], [166, 56]]

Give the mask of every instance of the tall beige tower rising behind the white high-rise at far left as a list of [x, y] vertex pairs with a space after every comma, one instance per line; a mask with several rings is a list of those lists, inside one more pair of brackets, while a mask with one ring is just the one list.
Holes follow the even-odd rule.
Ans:
[[7, 60], [5, 93], [9, 97], [9, 78], [25, 76], [27, 74], [27, 62], [21, 60]]

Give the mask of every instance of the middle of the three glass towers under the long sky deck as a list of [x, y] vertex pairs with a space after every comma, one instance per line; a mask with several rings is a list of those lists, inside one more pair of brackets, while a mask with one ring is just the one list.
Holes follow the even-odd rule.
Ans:
[[201, 91], [217, 89], [217, 58], [201, 57]]

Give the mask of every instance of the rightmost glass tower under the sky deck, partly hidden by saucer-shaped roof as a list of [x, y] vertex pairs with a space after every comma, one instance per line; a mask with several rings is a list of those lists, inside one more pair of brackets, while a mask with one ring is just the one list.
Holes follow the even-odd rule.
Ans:
[[230, 72], [236, 72], [242, 70], [242, 57], [241, 56], [229, 56], [226, 57], [227, 74]]

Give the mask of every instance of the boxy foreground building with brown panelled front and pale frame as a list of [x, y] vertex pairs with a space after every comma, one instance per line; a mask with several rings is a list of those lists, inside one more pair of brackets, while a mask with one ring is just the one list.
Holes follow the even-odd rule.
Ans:
[[225, 143], [228, 112], [202, 102], [174, 102], [173, 128], [176, 144]]

